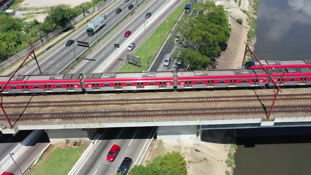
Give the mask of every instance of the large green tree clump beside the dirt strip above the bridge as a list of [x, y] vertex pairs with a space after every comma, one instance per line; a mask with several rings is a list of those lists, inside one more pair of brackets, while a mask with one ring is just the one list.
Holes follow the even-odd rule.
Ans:
[[180, 22], [176, 36], [180, 48], [173, 53], [173, 59], [190, 65], [191, 70], [206, 70], [210, 58], [219, 56], [225, 49], [231, 28], [223, 6], [208, 1], [192, 6], [199, 14], [185, 15]]

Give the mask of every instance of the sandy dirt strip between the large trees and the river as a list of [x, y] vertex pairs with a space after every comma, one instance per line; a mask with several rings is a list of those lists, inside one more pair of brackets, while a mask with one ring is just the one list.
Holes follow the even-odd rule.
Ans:
[[[248, 1], [243, 0], [242, 8], [248, 10]], [[218, 0], [216, 4], [222, 4], [225, 10], [229, 12], [229, 24], [231, 25], [231, 34], [228, 41], [227, 49], [221, 53], [216, 59], [217, 63], [214, 69], [241, 69], [247, 32], [250, 26], [247, 22], [247, 16], [237, 5], [230, 5], [226, 0]], [[237, 23], [235, 19], [242, 19], [242, 25]]]

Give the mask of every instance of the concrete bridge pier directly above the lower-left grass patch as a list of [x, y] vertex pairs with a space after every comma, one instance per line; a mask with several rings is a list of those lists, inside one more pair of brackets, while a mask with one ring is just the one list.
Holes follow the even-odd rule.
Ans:
[[89, 141], [97, 132], [97, 128], [88, 129], [47, 129], [51, 143]]

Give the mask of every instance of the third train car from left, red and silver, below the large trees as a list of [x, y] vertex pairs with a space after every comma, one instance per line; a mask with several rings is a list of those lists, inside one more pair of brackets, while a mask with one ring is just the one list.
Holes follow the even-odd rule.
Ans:
[[177, 72], [177, 89], [264, 87], [268, 75], [263, 70], [200, 70]]

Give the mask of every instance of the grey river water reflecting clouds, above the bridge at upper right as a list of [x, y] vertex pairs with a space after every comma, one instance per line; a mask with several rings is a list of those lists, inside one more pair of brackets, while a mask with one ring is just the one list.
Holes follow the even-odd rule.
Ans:
[[260, 0], [256, 33], [261, 60], [311, 59], [311, 0]]

